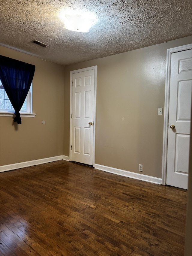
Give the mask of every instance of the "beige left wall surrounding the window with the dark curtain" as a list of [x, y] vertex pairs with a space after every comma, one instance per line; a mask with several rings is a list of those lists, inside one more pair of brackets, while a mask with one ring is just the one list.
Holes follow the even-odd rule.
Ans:
[[37, 113], [23, 117], [21, 125], [13, 125], [12, 117], [0, 117], [0, 165], [63, 155], [64, 67], [5, 47], [0, 47], [0, 54], [35, 65]]

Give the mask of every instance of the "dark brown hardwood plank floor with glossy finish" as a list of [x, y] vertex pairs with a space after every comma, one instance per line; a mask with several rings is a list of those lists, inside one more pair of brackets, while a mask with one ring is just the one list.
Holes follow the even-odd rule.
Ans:
[[0, 173], [0, 255], [184, 255], [187, 191], [67, 161]]

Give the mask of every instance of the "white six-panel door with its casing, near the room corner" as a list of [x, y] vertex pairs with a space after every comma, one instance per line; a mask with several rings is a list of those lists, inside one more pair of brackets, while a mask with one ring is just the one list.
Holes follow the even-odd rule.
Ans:
[[[70, 161], [94, 166], [96, 71], [71, 71]], [[92, 122], [92, 125], [89, 123]]]

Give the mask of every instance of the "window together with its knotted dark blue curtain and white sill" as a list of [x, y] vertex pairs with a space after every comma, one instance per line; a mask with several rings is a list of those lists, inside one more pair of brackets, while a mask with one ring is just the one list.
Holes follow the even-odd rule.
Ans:
[[35, 116], [32, 113], [32, 88], [30, 90], [34, 73], [35, 65], [0, 55], [0, 116], [13, 116], [17, 124], [22, 123], [21, 116]]

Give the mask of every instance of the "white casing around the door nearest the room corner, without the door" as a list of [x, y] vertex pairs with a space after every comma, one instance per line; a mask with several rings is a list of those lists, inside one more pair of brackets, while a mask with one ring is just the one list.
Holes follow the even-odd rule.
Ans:
[[76, 69], [73, 71], [70, 71], [70, 134], [69, 134], [69, 161], [72, 161], [72, 153], [71, 153], [71, 145], [72, 145], [72, 80], [73, 80], [73, 74], [79, 73], [79, 72], [84, 72], [84, 71], [89, 71], [89, 70], [95, 70], [95, 89], [94, 89], [94, 118], [93, 118], [93, 167], [95, 167], [95, 128], [96, 128], [96, 92], [97, 92], [97, 66], [92, 66], [88, 68], [81, 68], [81, 69]]

